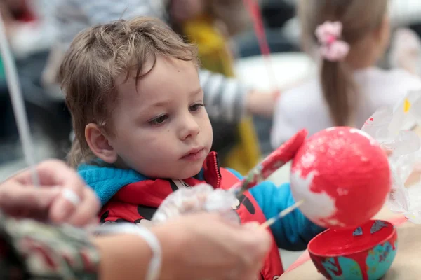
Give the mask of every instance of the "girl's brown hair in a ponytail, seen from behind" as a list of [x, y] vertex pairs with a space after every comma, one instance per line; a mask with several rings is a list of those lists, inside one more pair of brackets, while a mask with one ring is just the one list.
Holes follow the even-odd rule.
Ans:
[[[341, 40], [351, 49], [382, 25], [388, 0], [300, 0], [298, 16], [307, 52], [317, 45], [316, 28], [326, 21], [342, 23]], [[323, 60], [321, 88], [335, 125], [350, 125], [356, 106], [356, 86], [345, 61]]]

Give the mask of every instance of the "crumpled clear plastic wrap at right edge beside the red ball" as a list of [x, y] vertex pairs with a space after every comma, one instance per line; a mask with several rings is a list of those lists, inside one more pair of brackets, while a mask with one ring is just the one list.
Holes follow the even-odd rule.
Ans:
[[421, 92], [410, 92], [394, 109], [378, 109], [363, 125], [362, 130], [392, 151], [389, 164], [392, 172], [392, 190], [387, 204], [413, 223], [421, 223], [421, 185], [405, 187], [416, 164], [421, 162], [420, 137], [410, 130], [421, 123]]

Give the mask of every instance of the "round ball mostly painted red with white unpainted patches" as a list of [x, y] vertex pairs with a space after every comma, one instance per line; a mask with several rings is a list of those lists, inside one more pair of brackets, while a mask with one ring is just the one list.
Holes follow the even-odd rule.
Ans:
[[331, 127], [307, 139], [291, 167], [295, 201], [325, 228], [352, 228], [382, 208], [391, 186], [389, 162], [380, 145], [361, 130]]

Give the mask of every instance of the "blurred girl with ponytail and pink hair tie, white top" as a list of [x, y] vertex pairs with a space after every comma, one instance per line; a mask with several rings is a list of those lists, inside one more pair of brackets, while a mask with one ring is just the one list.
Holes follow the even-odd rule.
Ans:
[[300, 0], [302, 48], [318, 76], [283, 92], [276, 104], [272, 146], [306, 128], [361, 128], [374, 111], [394, 106], [421, 80], [402, 69], [375, 66], [389, 45], [388, 0]]

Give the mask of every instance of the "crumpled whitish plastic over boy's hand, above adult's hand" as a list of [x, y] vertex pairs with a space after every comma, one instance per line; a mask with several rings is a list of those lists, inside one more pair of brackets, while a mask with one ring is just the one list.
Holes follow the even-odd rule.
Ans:
[[214, 189], [201, 183], [194, 188], [181, 188], [168, 195], [156, 210], [152, 222], [163, 223], [171, 218], [204, 211], [218, 212], [227, 221], [239, 223], [239, 216], [232, 208], [238, 203], [234, 192]]

